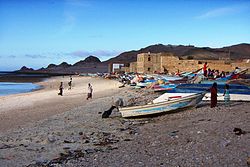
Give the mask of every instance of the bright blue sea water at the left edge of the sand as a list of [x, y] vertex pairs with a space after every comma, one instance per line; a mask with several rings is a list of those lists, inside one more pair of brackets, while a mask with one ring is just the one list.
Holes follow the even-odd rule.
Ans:
[[[0, 77], [11, 74], [10, 72], [0, 71]], [[41, 86], [33, 83], [19, 83], [19, 82], [0, 82], [0, 96], [11, 94], [27, 93], [37, 89]]]

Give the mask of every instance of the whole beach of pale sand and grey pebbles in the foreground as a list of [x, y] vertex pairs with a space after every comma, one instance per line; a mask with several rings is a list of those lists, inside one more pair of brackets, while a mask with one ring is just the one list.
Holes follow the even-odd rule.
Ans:
[[[64, 96], [57, 95], [61, 81]], [[39, 83], [42, 90], [0, 97], [0, 166], [248, 166], [249, 103], [202, 102], [137, 119], [113, 111], [102, 119], [118, 97], [142, 104], [157, 95], [90, 77], [73, 77], [68, 90], [68, 81], [53, 77]], [[89, 82], [94, 94], [86, 100]]]

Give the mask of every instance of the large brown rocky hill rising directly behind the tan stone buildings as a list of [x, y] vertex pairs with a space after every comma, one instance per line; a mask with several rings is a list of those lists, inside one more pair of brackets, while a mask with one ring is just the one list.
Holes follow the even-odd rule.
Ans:
[[151, 45], [140, 50], [132, 50], [121, 53], [120, 55], [111, 58], [106, 63], [110, 62], [126, 62], [136, 61], [136, 55], [139, 53], [160, 53], [170, 52], [182, 59], [246, 59], [250, 58], [250, 44], [238, 44], [223, 48], [195, 47], [192, 45]]

